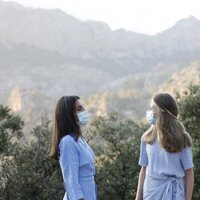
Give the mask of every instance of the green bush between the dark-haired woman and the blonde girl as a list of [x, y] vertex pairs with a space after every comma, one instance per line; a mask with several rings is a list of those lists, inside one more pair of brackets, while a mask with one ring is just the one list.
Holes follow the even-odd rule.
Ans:
[[94, 147], [97, 153], [98, 199], [134, 199], [140, 169], [140, 137], [144, 127], [112, 113], [108, 117], [97, 118], [91, 131], [98, 136]]

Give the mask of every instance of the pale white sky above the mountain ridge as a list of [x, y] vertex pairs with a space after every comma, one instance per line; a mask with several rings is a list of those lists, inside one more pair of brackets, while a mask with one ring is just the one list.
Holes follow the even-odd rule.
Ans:
[[[4, 0], [8, 1], [8, 0]], [[81, 20], [98, 20], [111, 29], [155, 34], [190, 15], [200, 19], [200, 0], [12, 0], [40, 8], [60, 8]]]

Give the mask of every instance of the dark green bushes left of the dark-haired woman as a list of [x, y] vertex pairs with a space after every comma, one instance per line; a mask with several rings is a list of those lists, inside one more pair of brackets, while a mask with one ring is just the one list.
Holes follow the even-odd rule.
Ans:
[[[9, 149], [9, 157], [4, 154], [1, 159], [0, 199], [62, 199], [64, 191], [59, 165], [48, 158], [51, 136], [49, 121], [42, 118], [41, 125], [33, 129], [31, 134], [35, 140], [31, 144], [20, 142], [13, 144], [10, 141], [12, 138], [7, 135], [12, 131], [21, 134], [21, 120], [19, 117], [15, 118], [9, 109], [1, 108], [9, 113], [3, 115], [4, 123], [1, 124], [1, 131], [7, 138], [3, 141], [3, 146]], [[12, 127], [12, 131], [7, 127]]]

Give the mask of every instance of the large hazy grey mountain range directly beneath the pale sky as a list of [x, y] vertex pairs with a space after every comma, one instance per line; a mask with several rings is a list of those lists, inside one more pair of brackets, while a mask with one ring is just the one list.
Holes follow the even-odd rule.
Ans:
[[161, 87], [199, 59], [200, 20], [193, 16], [149, 36], [0, 0], [0, 102], [29, 120], [52, 113], [66, 94], [84, 96], [93, 111], [98, 102], [98, 113], [126, 105], [124, 113], [137, 116], [152, 85]]

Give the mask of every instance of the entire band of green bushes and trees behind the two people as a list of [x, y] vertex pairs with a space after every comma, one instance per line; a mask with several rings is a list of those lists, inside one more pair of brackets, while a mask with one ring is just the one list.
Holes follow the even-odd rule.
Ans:
[[[177, 94], [180, 120], [193, 138], [195, 188], [193, 199], [200, 199], [200, 84], [190, 85]], [[64, 190], [57, 162], [48, 158], [51, 128], [43, 117], [24, 142], [24, 123], [9, 108], [0, 106], [0, 199], [62, 199]], [[89, 128], [96, 152], [98, 199], [134, 199], [138, 179], [138, 157], [145, 125], [111, 113], [96, 118]]]

